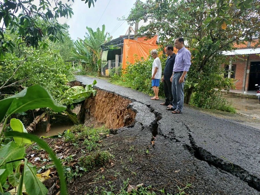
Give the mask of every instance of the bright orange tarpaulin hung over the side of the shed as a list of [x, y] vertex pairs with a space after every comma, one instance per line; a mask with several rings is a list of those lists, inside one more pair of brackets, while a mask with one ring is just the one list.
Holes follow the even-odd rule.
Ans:
[[[147, 41], [149, 42], [150, 40], [147, 40]], [[157, 36], [156, 36], [156, 40], [157, 40]], [[156, 40], [155, 40], [155, 42], [156, 42]], [[146, 59], [150, 54], [149, 52], [153, 49], [158, 49], [157, 44], [147, 43], [146, 41], [142, 42], [142, 41], [138, 41], [138, 40], [135, 41], [135, 40], [131, 40], [131, 39], [125, 39], [124, 40], [124, 49], [123, 49], [122, 69], [126, 68], [127, 62], [129, 62], [131, 64], [135, 63], [134, 54], [137, 55], [138, 59], [141, 59], [141, 57], [144, 57], [144, 59]]]

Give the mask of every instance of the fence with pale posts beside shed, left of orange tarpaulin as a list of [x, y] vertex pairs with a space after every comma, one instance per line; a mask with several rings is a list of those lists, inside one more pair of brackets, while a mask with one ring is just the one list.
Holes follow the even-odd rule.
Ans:
[[101, 67], [101, 76], [109, 77], [109, 72], [111, 69], [116, 69], [116, 74], [118, 74], [122, 70], [122, 59], [123, 55], [116, 55], [116, 60], [109, 60], [107, 64]]

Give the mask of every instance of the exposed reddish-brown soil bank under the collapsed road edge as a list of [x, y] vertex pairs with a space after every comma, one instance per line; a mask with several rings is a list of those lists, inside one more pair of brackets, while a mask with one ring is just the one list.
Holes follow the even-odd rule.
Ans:
[[94, 97], [86, 99], [79, 119], [84, 125], [105, 126], [109, 129], [118, 129], [131, 125], [136, 113], [128, 108], [130, 100], [103, 90], [97, 90]]

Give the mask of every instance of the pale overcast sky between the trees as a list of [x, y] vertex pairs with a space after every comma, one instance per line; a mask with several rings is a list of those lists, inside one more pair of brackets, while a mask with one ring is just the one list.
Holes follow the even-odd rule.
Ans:
[[[84, 38], [86, 26], [96, 31], [97, 27], [102, 29], [103, 24], [105, 24], [105, 32], [109, 32], [115, 39], [125, 35], [129, 27], [127, 21], [118, 21], [117, 18], [127, 17], [134, 3], [135, 0], [97, 0], [94, 3], [95, 7], [91, 5], [91, 8], [88, 8], [88, 3], [75, 0], [72, 4], [74, 13], [72, 18], [60, 18], [59, 22], [66, 22], [70, 26], [69, 32], [73, 40], [77, 40], [78, 37]], [[139, 27], [143, 24], [140, 22]]]

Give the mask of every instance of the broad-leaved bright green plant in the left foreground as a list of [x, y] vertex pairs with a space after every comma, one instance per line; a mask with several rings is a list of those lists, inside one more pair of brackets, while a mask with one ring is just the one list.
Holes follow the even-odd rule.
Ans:
[[[60, 160], [53, 154], [46, 142], [35, 135], [27, 133], [23, 123], [18, 119], [11, 119], [10, 126], [13, 131], [5, 132], [3, 135], [6, 123], [12, 114], [43, 107], [48, 107], [53, 112], [62, 112], [66, 109], [66, 106], [58, 104], [50, 93], [39, 85], [26, 88], [20, 93], [0, 101], [0, 121], [3, 121], [5, 118], [3, 129], [0, 133], [0, 194], [10, 194], [3, 190], [7, 178], [11, 185], [18, 188], [17, 195], [22, 195], [24, 192], [23, 188], [29, 195], [46, 195], [48, 193], [47, 188], [36, 176], [36, 166], [27, 162], [25, 158], [25, 150], [31, 144], [31, 141], [37, 142], [40, 147], [49, 153], [60, 176], [61, 194], [67, 194]], [[1, 145], [5, 138], [11, 137], [14, 138], [14, 141], [3, 146]], [[23, 165], [22, 173], [20, 172], [21, 165]]]

